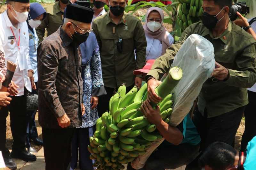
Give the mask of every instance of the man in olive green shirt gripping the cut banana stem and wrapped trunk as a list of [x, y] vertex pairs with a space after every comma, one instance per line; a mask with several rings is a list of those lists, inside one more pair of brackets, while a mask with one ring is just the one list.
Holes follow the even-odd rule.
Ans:
[[146, 76], [149, 100], [161, 100], [155, 88], [171, 67], [173, 57], [191, 34], [212, 42], [216, 69], [198, 97], [194, 123], [202, 138], [202, 150], [219, 141], [234, 146], [236, 131], [248, 104], [247, 87], [256, 82], [255, 45], [252, 35], [229, 20], [232, 0], [203, 0], [202, 22], [190, 25], [177, 44], [158, 58]]

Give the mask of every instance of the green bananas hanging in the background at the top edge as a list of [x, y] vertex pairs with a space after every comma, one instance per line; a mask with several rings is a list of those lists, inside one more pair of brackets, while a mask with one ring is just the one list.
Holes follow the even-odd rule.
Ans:
[[183, 32], [189, 25], [198, 22], [204, 12], [203, 0], [178, 0], [180, 9], [177, 17], [177, 23], [180, 26], [178, 32]]

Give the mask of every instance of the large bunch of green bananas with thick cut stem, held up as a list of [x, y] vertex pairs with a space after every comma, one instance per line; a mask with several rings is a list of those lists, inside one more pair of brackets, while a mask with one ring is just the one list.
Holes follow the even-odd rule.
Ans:
[[[172, 114], [172, 90], [182, 77], [178, 67], [170, 69], [169, 75], [156, 88], [156, 93], [164, 100], [158, 103], [161, 117], [169, 122]], [[169, 90], [169, 91], [168, 91]], [[126, 93], [125, 85], [121, 85], [109, 100], [109, 112], [105, 112], [96, 122], [96, 131], [90, 137], [88, 151], [97, 169], [123, 169], [139, 155], [146, 153], [146, 148], [153, 141], [163, 137], [141, 113], [140, 106], [147, 99], [147, 84], [140, 90], [134, 86]], [[156, 104], [151, 104], [153, 107]]]

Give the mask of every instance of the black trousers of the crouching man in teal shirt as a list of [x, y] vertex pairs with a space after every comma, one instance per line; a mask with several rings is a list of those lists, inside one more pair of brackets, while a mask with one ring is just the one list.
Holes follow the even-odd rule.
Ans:
[[[200, 145], [179, 144], [158, 148], [148, 158], [140, 170], [176, 169], [188, 165], [198, 154]], [[127, 170], [134, 170], [129, 164]]]

